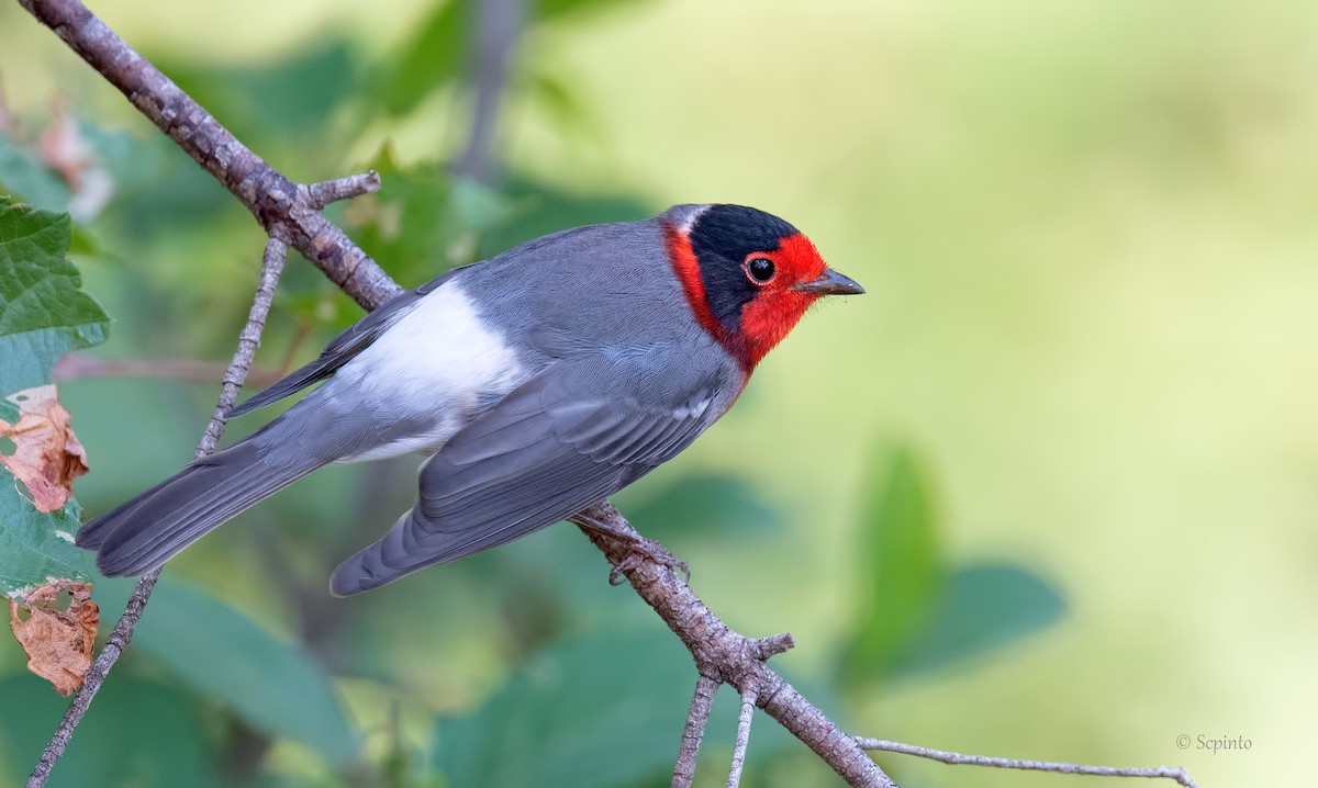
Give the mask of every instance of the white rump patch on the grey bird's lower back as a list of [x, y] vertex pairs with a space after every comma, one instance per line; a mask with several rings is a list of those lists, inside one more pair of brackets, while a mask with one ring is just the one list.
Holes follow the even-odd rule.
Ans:
[[[398, 420], [431, 426], [351, 460], [438, 451], [527, 372], [503, 333], [485, 322], [456, 281], [426, 295], [360, 356], [335, 374], [344, 397], [381, 407]], [[340, 386], [341, 383], [341, 386]]]

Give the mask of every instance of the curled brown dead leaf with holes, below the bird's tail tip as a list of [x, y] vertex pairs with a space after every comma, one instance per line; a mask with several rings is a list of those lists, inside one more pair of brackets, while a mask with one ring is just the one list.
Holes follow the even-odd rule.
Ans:
[[[69, 609], [51, 609], [66, 590]], [[59, 694], [72, 694], [87, 677], [99, 625], [100, 607], [91, 598], [90, 582], [53, 580], [30, 592], [21, 606], [9, 600], [9, 627], [28, 654], [28, 669], [50, 681]]]

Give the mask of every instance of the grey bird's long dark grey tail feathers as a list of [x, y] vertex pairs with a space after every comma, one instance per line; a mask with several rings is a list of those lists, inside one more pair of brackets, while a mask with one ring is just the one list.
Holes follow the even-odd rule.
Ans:
[[76, 544], [96, 551], [96, 567], [105, 576], [144, 575], [324, 464], [310, 457], [302, 463], [268, 463], [268, 443], [260, 436], [196, 460], [173, 478], [84, 523]]

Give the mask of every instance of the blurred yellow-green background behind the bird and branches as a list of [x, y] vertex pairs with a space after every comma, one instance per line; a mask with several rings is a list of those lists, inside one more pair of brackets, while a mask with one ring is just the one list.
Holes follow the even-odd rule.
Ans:
[[[1201, 785], [1306, 768], [1318, 5], [542, 0], [484, 186], [443, 166], [471, 125], [471, 3], [94, 11], [287, 175], [378, 167], [335, 216], [405, 286], [710, 200], [787, 217], [862, 282], [618, 498], [729, 625], [796, 636], [775, 665], [849, 731]], [[4, 190], [67, 207], [30, 155], [57, 94], [113, 184], [75, 206], [116, 319], [91, 354], [227, 360], [250, 217], [16, 4], [0, 83]], [[358, 314], [294, 265], [258, 362]], [[98, 513], [191, 456], [217, 385], [61, 391]], [[413, 488], [407, 463], [327, 469], [171, 563], [51, 784], [666, 784], [693, 669], [573, 528], [328, 598]], [[113, 619], [127, 586], [100, 588]], [[66, 704], [4, 639], [0, 683], [11, 781]], [[905, 787], [1101, 784], [880, 762]], [[764, 718], [749, 770], [837, 781]]]

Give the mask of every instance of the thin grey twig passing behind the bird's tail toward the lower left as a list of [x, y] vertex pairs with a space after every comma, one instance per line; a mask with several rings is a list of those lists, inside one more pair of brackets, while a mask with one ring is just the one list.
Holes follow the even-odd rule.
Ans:
[[[215, 444], [219, 441], [220, 434], [224, 431], [224, 422], [228, 416], [229, 408], [237, 401], [239, 386], [246, 378], [248, 368], [252, 365], [252, 357], [256, 356], [256, 349], [261, 344], [261, 331], [265, 328], [266, 315], [270, 312], [270, 300], [274, 295], [274, 286], [279, 281], [279, 271], [283, 270], [283, 261], [287, 256], [289, 245], [283, 240], [283, 232], [274, 228], [274, 235], [270, 236], [270, 241], [265, 246], [265, 256], [261, 262], [261, 278], [257, 285], [256, 295], [252, 299], [252, 310], [248, 314], [246, 324], [243, 327], [243, 333], [239, 337], [237, 351], [233, 353], [233, 361], [229, 362], [228, 372], [224, 374], [224, 385], [220, 389], [219, 402], [215, 405], [215, 415], [211, 416], [210, 423], [206, 426], [206, 431], [202, 434], [202, 441], [196, 447], [196, 459], [202, 459], [215, 451]], [[28, 777], [26, 788], [42, 788], [46, 780], [50, 777], [50, 771], [55, 767], [55, 762], [63, 755], [65, 748], [69, 746], [69, 741], [74, 735], [74, 730], [82, 721], [83, 714], [91, 708], [91, 701], [96, 697], [96, 692], [100, 685], [105, 681], [105, 676], [109, 669], [119, 661], [120, 655], [124, 648], [128, 647], [129, 640], [133, 639], [133, 629], [137, 626], [137, 621], [142, 617], [142, 611], [146, 609], [146, 601], [150, 600], [152, 589], [156, 588], [156, 581], [159, 578], [159, 569], [153, 569], [137, 581], [133, 586], [133, 593], [128, 598], [128, 607], [124, 614], [119, 618], [115, 625], [113, 631], [109, 634], [109, 640], [105, 647], [100, 650], [96, 655], [96, 660], [92, 663], [91, 668], [87, 671], [87, 677], [83, 681], [82, 689], [78, 690], [78, 696], [69, 705], [69, 710], [65, 712], [63, 719], [59, 721], [59, 727], [55, 729], [55, 734], [51, 737], [50, 743], [46, 745], [45, 751], [41, 754], [41, 760], [37, 762], [37, 767], [32, 771], [32, 776]]]

